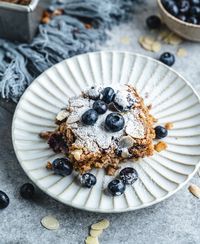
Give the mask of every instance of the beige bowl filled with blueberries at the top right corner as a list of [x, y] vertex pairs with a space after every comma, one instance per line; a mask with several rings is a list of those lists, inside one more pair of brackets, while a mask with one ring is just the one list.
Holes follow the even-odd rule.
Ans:
[[157, 0], [164, 23], [176, 34], [200, 41], [200, 0]]

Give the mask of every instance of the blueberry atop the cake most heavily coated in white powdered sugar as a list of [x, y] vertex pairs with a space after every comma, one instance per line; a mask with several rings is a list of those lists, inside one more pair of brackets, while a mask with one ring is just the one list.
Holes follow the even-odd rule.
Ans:
[[114, 107], [121, 112], [127, 112], [135, 103], [135, 98], [127, 91], [118, 91], [113, 99]]

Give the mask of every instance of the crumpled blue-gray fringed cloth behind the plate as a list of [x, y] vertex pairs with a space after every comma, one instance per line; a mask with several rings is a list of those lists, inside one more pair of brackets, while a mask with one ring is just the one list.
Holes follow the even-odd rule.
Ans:
[[[26, 87], [48, 67], [76, 54], [94, 51], [106, 40], [106, 29], [132, 17], [137, 0], [54, 1], [50, 9], [64, 8], [64, 15], [41, 24], [31, 44], [0, 39], [0, 93], [17, 102]], [[94, 28], [86, 29], [89, 21]]]

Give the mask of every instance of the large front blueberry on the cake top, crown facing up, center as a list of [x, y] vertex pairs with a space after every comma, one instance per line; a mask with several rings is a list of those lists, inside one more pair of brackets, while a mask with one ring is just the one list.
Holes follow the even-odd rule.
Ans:
[[124, 128], [124, 117], [119, 113], [110, 113], [106, 117], [105, 128], [111, 132], [117, 132]]

